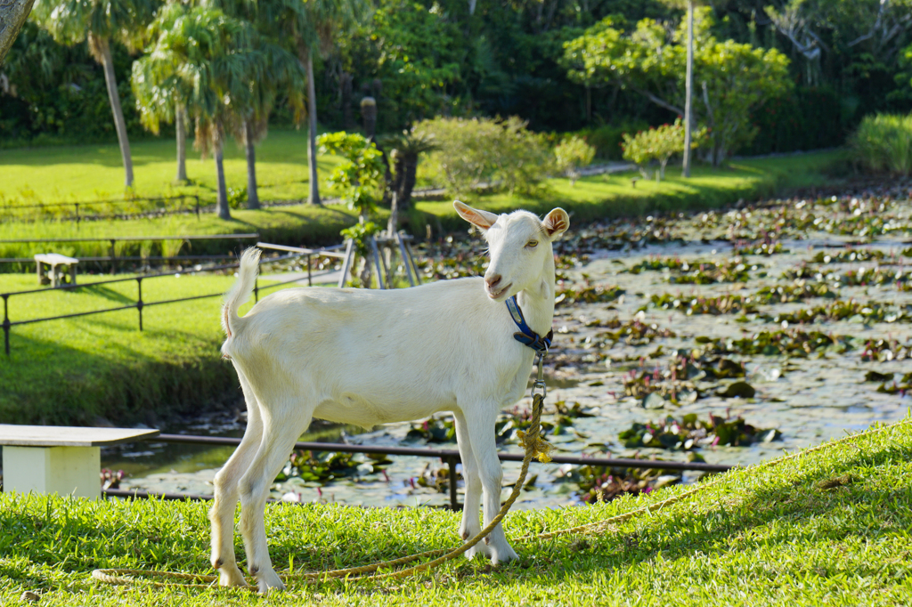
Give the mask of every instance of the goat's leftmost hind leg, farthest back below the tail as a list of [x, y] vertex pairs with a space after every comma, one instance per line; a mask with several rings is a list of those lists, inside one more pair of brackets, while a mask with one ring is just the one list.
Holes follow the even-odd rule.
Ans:
[[221, 586], [247, 585], [234, 556], [234, 509], [239, 499], [238, 483], [250, 467], [263, 437], [260, 406], [244, 376], [241, 376], [241, 386], [247, 400], [247, 429], [241, 444], [212, 481], [215, 499], [209, 510], [209, 520], [212, 521], [212, 567], [219, 571]]

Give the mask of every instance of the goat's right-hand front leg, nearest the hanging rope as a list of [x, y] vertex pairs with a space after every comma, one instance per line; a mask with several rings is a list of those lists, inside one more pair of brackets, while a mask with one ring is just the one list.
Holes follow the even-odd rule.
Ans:
[[[469, 426], [472, 453], [478, 465], [478, 473], [484, 489], [484, 527], [487, 527], [497, 513], [501, 510], [501, 481], [503, 468], [497, 458], [497, 446], [494, 443], [494, 422], [497, 418], [498, 406], [494, 403], [485, 403], [477, 412], [466, 417]], [[503, 535], [503, 525], [498, 525], [491, 531], [484, 541], [490, 550], [489, 556], [493, 564], [509, 562], [517, 559], [516, 552], [507, 543]]]

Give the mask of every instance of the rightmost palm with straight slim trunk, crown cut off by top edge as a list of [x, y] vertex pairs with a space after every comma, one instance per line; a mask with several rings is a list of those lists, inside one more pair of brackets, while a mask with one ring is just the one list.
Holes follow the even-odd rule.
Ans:
[[307, 168], [310, 192], [307, 201], [320, 204], [316, 177], [316, 87], [314, 55], [326, 53], [333, 37], [354, 26], [367, 14], [365, 0], [260, 0], [259, 22], [276, 39], [286, 40], [297, 55], [307, 80]]

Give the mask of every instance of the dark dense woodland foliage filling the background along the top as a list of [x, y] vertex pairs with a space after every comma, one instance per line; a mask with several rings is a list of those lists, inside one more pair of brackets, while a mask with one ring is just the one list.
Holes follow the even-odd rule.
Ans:
[[[683, 11], [668, 4], [373, 0], [356, 31], [329, 27], [328, 38], [317, 45], [319, 118], [330, 129], [357, 129], [366, 96], [377, 100], [380, 132], [398, 132], [438, 115], [517, 116], [536, 131], [583, 131], [598, 158], [619, 159], [623, 132], [669, 122], [674, 112], [629, 85], [575, 81], [564, 63], [565, 44], [610, 17], [619, 33], [636, 31], [637, 23], [651, 19], [650, 32], [669, 47], [679, 46], [673, 38], [679, 36], [675, 28]], [[720, 133], [726, 138], [720, 145], [741, 153], [829, 147], [842, 143], [865, 114], [912, 108], [908, 4], [731, 0], [703, 9], [712, 16], [698, 19], [704, 40], [714, 39], [720, 52], [743, 51], [742, 62], [756, 60], [745, 54], [748, 49], [775, 57], [776, 69], [785, 69], [793, 84], [764, 88], [766, 98], [734, 112], [744, 123], [737, 130], [755, 132], [755, 139]], [[231, 14], [229, 4], [218, 5]], [[698, 56], [715, 54], [712, 48], [698, 46]], [[119, 44], [112, 44], [111, 52], [127, 129], [135, 137], [142, 131], [125, 80], [137, 57]], [[787, 68], [780, 56], [789, 60]], [[707, 79], [707, 86], [711, 99], [713, 87], [728, 83]], [[700, 111], [705, 105], [700, 80], [695, 92]], [[57, 44], [29, 23], [2, 68], [0, 139], [7, 146], [113, 140], [105, 97], [103, 72], [85, 46]], [[274, 121], [301, 118], [300, 108], [284, 95], [276, 102]]]

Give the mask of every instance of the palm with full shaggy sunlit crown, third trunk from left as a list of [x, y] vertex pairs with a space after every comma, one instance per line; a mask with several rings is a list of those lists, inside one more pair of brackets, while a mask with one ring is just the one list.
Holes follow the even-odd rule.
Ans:
[[196, 124], [194, 145], [215, 159], [219, 217], [230, 219], [225, 130], [250, 107], [250, 82], [268, 77], [264, 54], [254, 49], [249, 24], [217, 9], [168, 5], [153, 29], [158, 36], [138, 68], [153, 94], [150, 114], [167, 116], [169, 104], [186, 108]]

